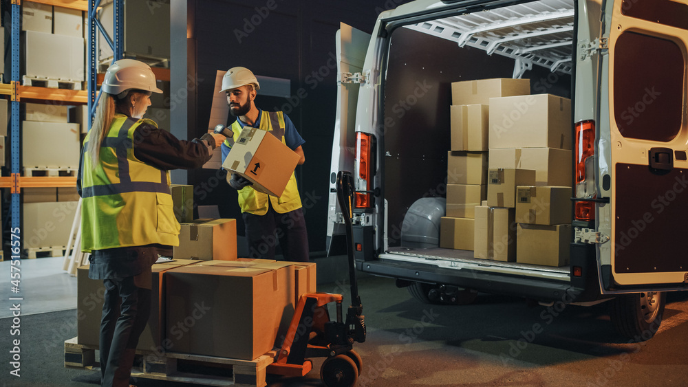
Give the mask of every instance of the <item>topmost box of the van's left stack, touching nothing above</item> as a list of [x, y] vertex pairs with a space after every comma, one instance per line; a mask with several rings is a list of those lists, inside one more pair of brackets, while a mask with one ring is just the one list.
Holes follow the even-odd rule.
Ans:
[[451, 104], [490, 104], [490, 98], [530, 94], [530, 80], [493, 78], [451, 83]]

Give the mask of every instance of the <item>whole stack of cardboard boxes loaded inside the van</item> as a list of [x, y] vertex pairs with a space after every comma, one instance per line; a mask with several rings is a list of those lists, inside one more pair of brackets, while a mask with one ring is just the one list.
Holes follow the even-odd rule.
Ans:
[[[570, 100], [530, 95], [529, 80], [488, 79], [454, 82], [452, 101], [440, 247], [473, 250], [475, 258], [496, 261], [568, 264]], [[488, 168], [481, 169], [485, 163]], [[470, 173], [482, 179], [469, 183]], [[486, 201], [477, 200], [475, 188], [474, 196], [464, 194], [468, 184], [486, 184], [480, 197]], [[469, 235], [472, 244], [464, 243]]]

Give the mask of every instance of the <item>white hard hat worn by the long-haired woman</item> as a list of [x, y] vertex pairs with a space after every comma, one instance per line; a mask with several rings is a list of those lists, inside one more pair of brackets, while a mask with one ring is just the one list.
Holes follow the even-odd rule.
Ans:
[[117, 60], [107, 68], [102, 90], [118, 95], [129, 89], [162, 93], [155, 85], [155, 74], [149, 65], [133, 59]]

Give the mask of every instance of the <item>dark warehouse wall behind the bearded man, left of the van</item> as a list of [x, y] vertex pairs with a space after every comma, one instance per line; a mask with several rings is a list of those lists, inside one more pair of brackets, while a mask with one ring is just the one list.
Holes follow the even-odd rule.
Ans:
[[[290, 80], [290, 96], [259, 92], [256, 102], [261, 109], [287, 113], [305, 140], [306, 162], [297, 166], [296, 173], [312, 256], [325, 250], [336, 113], [336, 32], [340, 22], [372, 32], [380, 12], [407, 2], [193, 1], [195, 25], [187, 36], [195, 41], [189, 58], [195, 61], [197, 87], [189, 98], [197, 101], [197, 124], [189, 128], [189, 138], [197, 137], [208, 126], [218, 70], [244, 66], [259, 76]], [[230, 116], [228, 124], [233, 120]], [[218, 206], [221, 217], [237, 219], [237, 233], [243, 236], [237, 192], [224, 181], [224, 172], [201, 169], [190, 171], [188, 176], [189, 184], [195, 186], [195, 203]]]

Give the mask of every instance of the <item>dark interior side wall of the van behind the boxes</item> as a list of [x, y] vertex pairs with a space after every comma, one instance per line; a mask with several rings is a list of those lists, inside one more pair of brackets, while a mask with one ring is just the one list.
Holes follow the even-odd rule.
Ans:
[[[385, 79], [385, 198], [389, 246], [400, 245], [409, 207], [421, 197], [446, 197], [451, 82], [512, 78], [514, 60], [398, 28], [391, 34]], [[531, 93], [570, 98], [571, 76], [533, 66]]]

